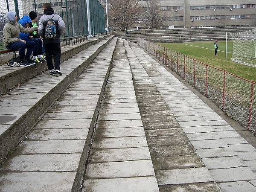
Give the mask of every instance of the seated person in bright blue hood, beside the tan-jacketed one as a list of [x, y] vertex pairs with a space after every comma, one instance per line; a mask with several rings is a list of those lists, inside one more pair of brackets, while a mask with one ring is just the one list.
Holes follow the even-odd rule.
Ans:
[[[29, 28], [29, 24], [31, 23], [31, 19], [28, 15], [24, 15], [19, 20], [20, 25], [22, 25], [25, 28]], [[29, 36], [29, 33], [20, 32], [19, 38], [24, 41], [32, 41], [35, 43], [34, 49], [33, 49], [33, 56], [32, 61], [35, 63], [42, 63], [45, 61], [44, 58], [42, 58], [42, 40], [38, 38], [32, 38], [32, 36]]]

